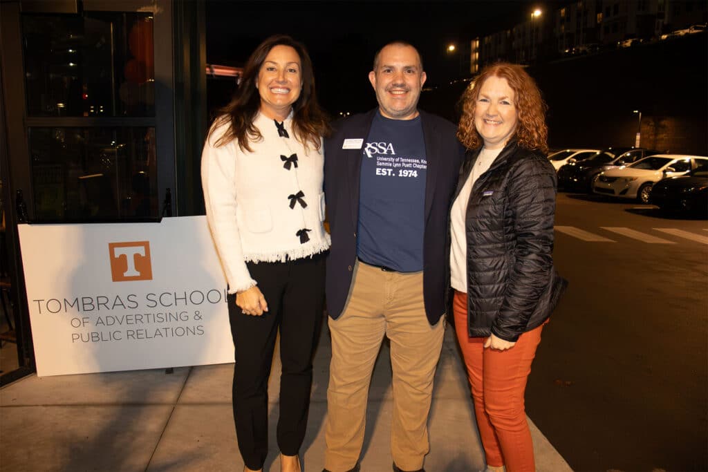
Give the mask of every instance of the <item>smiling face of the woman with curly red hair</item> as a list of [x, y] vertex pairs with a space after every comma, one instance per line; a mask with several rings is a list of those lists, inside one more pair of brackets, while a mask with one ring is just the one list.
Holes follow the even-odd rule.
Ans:
[[486, 149], [500, 149], [516, 131], [515, 93], [503, 77], [491, 76], [481, 84], [474, 105], [474, 127]]

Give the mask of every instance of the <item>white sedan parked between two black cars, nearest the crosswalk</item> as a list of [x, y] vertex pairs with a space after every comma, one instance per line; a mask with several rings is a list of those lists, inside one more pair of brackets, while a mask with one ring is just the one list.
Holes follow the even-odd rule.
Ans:
[[649, 203], [649, 193], [655, 183], [663, 178], [684, 175], [707, 159], [680, 154], [645, 157], [627, 167], [601, 173], [595, 179], [593, 192], [612, 197], [636, 198], [639, 202]]

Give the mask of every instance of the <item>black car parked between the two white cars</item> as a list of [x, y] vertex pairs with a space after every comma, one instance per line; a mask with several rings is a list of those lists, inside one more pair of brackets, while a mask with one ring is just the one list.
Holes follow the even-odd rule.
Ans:
[[592, 193], [594, 180], [601, 172], [628, 166], [654, 154], [661, 154], [661, 151], [643, 147], [610, 147], [584, 161], [576, 162], [570, 159], [558, 169], [558, 188]]

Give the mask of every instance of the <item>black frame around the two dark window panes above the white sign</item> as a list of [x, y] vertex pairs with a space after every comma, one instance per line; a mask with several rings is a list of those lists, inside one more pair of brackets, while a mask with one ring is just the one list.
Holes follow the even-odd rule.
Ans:
[[[76, 8], [72, 10], [72, 5]], [[171, 203], [176, 199], [176, 160], [173, 103], [173, 39], [172, 2], [169, 0], [84, 0], [79, 8], [76, 1], [13, 2], [0, 4], [2, 12], [3, 64], [6, 75], [6, 123], [8, 149], [11, 158], [9, 179], [14, 189], [22, 189], [27, 207], [28, 222], [37, 221], [35, 215], [34, 183], [29, 153], [29, 129], [33, 127], [154, 127], [156, 152], [156, 192], [158, 214], [164, 212], [164, 200], [171, 189]], [[25, 94], [25, 64], [22, 47], [21, 17], [23, 14], [83, 15], [90, 11], [152, 12], [154, 35], [155, 104], [151, 117], [39, 117], [28, 114]], [[8, 84], [13, 84], [8, 93]], [[175, 205], [171, 205], [175, 207]], [[110, 221], [129, 222], [119, 218]], [[144, 221], [144, 219], [142, 220]], [[57, 223], [57, 221], [52, 221]], [[69, 220], [67, 219], [67, 222]], [[71, 222], [76, 223], [76, 220]], [[86, 221], [89, 223], [91, 221]], [[105, 222], [105, 221], [104, 221]]]

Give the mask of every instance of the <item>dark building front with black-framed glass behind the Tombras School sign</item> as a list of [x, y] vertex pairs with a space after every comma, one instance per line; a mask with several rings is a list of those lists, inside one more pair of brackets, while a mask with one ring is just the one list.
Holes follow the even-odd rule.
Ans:
[[6, 0], [0, 13], [6, 384], [34, 369], [17, 225], [202, 214], [207, 67], [202, 2]]

